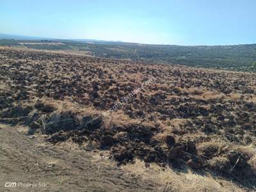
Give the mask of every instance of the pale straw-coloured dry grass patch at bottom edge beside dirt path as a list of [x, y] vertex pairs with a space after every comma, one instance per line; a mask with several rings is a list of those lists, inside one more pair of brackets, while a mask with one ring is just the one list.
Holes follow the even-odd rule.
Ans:
[[206, 173], [194, 173], [191, 170], [175, 172], [172, 168], [162, 168], [155, 163], [146, 168], [145, 163], [136, 159], [134, 164], [122, 168], [141, 180], [150, 180], [159, 184], [159, 191], [246, 191], [229, 180], [212, 177]]

